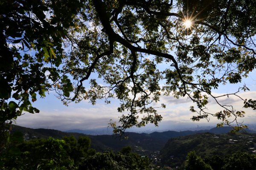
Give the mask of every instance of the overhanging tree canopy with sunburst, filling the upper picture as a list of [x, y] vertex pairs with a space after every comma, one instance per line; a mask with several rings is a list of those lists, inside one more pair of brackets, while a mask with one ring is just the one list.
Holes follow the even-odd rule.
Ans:
[[[244, 111], [218, 99], [235, 95], [256, 109], [256, 100], [238, 96], [245, 85], [212, 94], [255, 69], [253, 0], [3, 0], [0, 7], [2, 124], [38, 113], [32, 103], [49, 91], [64, 104], [119, 99], [115, 133], [158, 125], [161, 95], [191, 99], [193, 121], [212, 115], [236, 130], [245, 127], [237, 122]], [[209, 99], [221, 110], [208, 112]]]

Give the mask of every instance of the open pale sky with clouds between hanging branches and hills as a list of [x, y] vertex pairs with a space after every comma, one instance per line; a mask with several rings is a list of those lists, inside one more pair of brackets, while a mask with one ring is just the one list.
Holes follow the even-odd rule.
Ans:
[[[239, 86], [244, 83], [250, 88], [248, 92], [241, 92], [240, 95], [245, 98], [254, 98], [256, 96], [256, 72], [252, 72], [247, 79], [244, 79], [239, 85], [226, 85], [220, 86], [213, 94], [227, 94], [234, 92]], [[209, 100], [209, 111], [215, 113], [218, 111], [218, 106], [215, 102]], [[229, 98], [220, 99], [222, 104], [232, 103], [236, 110], [246, 111], [245, 118], [240, 119], [244, 124], [254, 123], [256, 121], [256, 112], [246, 110], [242, 107], [242, 102], [233, 96]], [[172, 96], [161, 96], [160, 103], [166, 104], [166, 109], [159, 109], [158, 112], [163, 116], [163, 121], [158, 130], [174, 130], [182, 126], [197, 126], [197, 125], [216, 125], [218, 122], [214, 117], [210, 117], [210, 122], [202, 120], [200, 122], [192, 122], [190, 118], [193, 113], [189, 111], [189, 106], [192, 102], [186, 97], [175, 99]], [[101, 127], [108, 127], [110, 119], [118, 121], [118, 116], [121, 113], [117, 112], [119, 106], [118, 100], [113, 100], [111, 104], [105, 105], [104, 101], [98, 100], [96, 105], [91, 105], [88, 101], [81, 103], [70, 103], [64, 106], [54, 94], [47, 95], [44, 99], [38, 99], [33, 103], [35, 107], [40, 110], [40, 113], [26, 113], [17, 118], [16, 124], [31, 128], [50, 128], [57, 130], [70, 130], [70, 129], [94, 129]], [[194, 114], [195, 115], [195, 114]], [[154, 126], [148, 125], [143, 129], [153, 129]], [[139, 130], [140, 131], [140, 130]]]

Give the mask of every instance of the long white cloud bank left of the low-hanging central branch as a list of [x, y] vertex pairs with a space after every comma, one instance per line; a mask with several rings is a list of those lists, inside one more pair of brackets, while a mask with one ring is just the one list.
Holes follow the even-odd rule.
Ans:
[[108, 127], [110, 119], [117, 121], [116, 108], [101, 105], [91, 108], [72, 108], [65, 110], [44, 111], [41, 113], [26, 113], [17, 118], [17, 125], [32, 128], [51, 128], [58, 130], [94, 129]]

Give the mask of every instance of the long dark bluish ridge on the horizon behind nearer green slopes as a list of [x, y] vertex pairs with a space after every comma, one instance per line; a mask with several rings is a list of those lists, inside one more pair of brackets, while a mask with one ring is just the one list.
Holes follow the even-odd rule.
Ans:
[[[137, 153], [148, 153], [161, 150], [166, 142], [178, 136], [188, 136], [196, 133], [228, 133], [231, 127], [212, 128], [210, 130], [198, 130], [198, 131], [166, 131], [166, 132], [153, 132], [147, 133], [132, 133], [127, 132], [125, 135], [128, 136], [128, 140], [119, 140], [112, 135], [86, 135], [83, 133], [75, 132], [62, 132], [60, 130], [53, 129], [32, 129], [15, 125], [13, 131], [20, 131], [23, 133], [25, 139], [32, 138], [62, 138], [63, 136], [75, 136], [77, 139], [79, 136], [88, 136], [91, 139], [91, 147], [98, 150], [121, 150], [123, 147], [130, 145]], [[254, 132], [247, 130], [248, 132]]]

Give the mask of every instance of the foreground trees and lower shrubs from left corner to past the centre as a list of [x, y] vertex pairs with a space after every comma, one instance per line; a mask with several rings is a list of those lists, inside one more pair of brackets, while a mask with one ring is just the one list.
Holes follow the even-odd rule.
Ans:
[[[21, 134], [21, 135], [20, 135]], [[131, 148], [130, 148], [131, 149]], [[125, 151], [125, 152], [124, 152]], [[128, 151], [128, 152], [127, 152]], [[124, 153], [122, 153], [124, 152]], [[125, 147], [122, 152], [96, 153], [90, 139], [73, 136], [62, 139], [23, 141], [22, 133], [11, 136], [9, 147], [0, 155], [1, 170], [151, 170], [148, 157]]]

